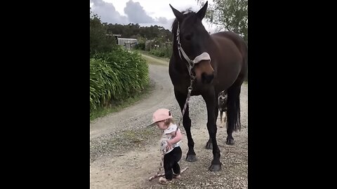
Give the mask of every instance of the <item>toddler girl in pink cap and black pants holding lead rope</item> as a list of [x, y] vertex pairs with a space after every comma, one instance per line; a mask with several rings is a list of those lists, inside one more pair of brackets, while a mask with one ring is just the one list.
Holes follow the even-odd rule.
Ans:
[[161, 137], [161, 153], [164, 154], [165, 178], [160, 177], [159, 183], [168, 184], [172, 178], [180, 178], [180, 166], [178, 162], [181, 159], [180, 140], [183, 138], [180, 129], [173, 123], [171, 111], [168, 109], [158, 109], [153, 113], [153, 123], [160, 130], [163, 130]]

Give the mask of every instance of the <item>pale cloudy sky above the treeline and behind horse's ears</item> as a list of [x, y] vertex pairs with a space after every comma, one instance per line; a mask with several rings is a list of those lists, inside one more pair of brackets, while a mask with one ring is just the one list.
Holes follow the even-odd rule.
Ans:
[[[213, 1], [209, 0], [210, 3]], [[201, 8], [197, 0], [90, 0], [91, 10], [100, 16], [102, 22], [138, 23], [142, 27], [158, 25], [171, 31], [175, 16], [169, 4], [180, 12], [187, 8], [197, 12]], [[216, 30], [206, 19], [202, 22], [207, 31], [213, 33]]]

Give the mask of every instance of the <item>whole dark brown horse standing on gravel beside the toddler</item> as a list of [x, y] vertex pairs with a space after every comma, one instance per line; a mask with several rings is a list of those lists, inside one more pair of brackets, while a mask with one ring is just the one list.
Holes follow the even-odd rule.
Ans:
[[[201, 95], [204, 98], [209, 131], [206, 148], [213, 148], [213, 160], [209, 169], [218, 171], [221, 169], [220, 150], [216, 141], [218, 94], [227, 90], [226, 144], [232, 145], [234, 144], [232, 132], [240, 130], [241, 127], [240, 92], [247, 74], [248, 48], [243, 38], [237, 34], [227, 31], [210, 35], [206, 31], [201, 20], [206, 13], [207, 2], [197, 13], [192, 11], [180, 13], [172, 6], [171, 8], [176, 16], [172, 25], [173, 55], [169, 64], [174, 94], [182, 112], [187, 98], [187, 88], [191, 82], [191, 95]], [[183, 116], [183, 126], [189, 148], [186, 160], [194, 162], [197, 158], [190, 130], [188, 106]]]

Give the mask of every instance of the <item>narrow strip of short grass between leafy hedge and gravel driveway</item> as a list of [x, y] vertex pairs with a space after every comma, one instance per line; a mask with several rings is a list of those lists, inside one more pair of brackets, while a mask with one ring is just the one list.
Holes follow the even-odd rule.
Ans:
[[143, 92], [140, 92], [140, 94], [135, 95], [134, 97], [129, 97], [127, 99], [124, 99], [124, 101], [121, 102], [114, 102], [113, 105], [110, 105], [110, 107], [99, 107], [98, 109], [94, 110], [90, 115], [90, 120], [95, 120], [97, 118], [101, 118], [104, 116], [107, 116], [110, 113], [121, 111], [122, 109], [127, 108], [128, 106], [132, 106], [136, 104], [136, 102], [139, 102], [141, 99], [145, 99], [150, 92], [153, 89], [153, 85], [147, 85]]

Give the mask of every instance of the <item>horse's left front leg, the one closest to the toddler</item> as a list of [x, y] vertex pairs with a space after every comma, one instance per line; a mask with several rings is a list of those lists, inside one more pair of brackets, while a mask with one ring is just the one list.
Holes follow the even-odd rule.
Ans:
[[[180, 110], [181, 112], [183, 112], [187, 94], [182, 94], [180, 92], [177, 92], [176, 90], [174, 91], [174, 94], [180, 106]], [[190, 113], [188, 111], [188, 104], [186, 106], [185, 113], [183, 116], [183, 126], [185, 128], [185, 132], [187, 135], [187, 146], [188, 146], [186, 160], [188, 162], [195, 162], [197, 161], [197, 156], [195, 155], [195, 152], [194, 152], [194, 141], [192, 139], [192, 134], [191, 134], [191, 119], [190, 119]]]

